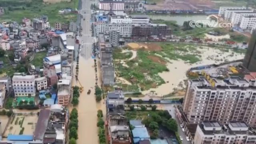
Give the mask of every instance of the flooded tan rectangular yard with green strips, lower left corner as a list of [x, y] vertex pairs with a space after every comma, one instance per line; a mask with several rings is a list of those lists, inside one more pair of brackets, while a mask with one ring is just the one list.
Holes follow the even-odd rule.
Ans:
[[24, 127], [23, 134], [33, 134], [36, 128], [38, 116], [35, 115], [14, 115], [7, 126], [4, 137], [8, 134], [20, 134], [22, 127]]

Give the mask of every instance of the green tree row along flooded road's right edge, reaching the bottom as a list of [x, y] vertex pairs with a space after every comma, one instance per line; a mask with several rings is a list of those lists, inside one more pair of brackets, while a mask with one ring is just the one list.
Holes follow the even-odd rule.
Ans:
[[104, 120], [102, 120], [103, 114], [102, 110], [98, 110], [98, 122], [97, 122], [97, 127], [98, 127], [98, 137], [100, 144], [106, 144], [106, 136], [105, 136], [105, 129], [104, 129]]

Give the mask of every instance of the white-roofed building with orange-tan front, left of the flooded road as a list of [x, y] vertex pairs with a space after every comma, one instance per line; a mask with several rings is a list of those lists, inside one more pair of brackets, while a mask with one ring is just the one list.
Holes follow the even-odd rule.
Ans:
[[70, 100], [70, 80], [60, 79], [58, 81], [58, 104], [68, 106]]

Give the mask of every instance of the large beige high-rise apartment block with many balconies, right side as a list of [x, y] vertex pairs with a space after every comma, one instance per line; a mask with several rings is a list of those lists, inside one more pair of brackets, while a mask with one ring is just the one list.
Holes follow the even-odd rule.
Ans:
[[206, 79], [190, 80], [186, 90], [183, 112], [190, 124], [202, 121], [244, 121], [256, 127], [256, 87], [247, 80], [230, 77], [214, 79], [215, 86]]

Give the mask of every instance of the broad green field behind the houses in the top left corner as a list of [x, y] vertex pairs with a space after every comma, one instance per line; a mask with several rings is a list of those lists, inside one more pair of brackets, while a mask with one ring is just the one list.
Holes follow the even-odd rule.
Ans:
[[47, 15], [50, 24], [55, 22], [69, 22], [76, 20], [76, 14], [58, 14], [63, 8], [77, 8], [78, 0], [71, 2], [59, 2], [56, 4], [46, 4], [43, 0], [0, 0], [0, 6], [5, 8], [5, 14], [1, 16], [0, 21], [20, 22], [24, 17], [36, 18]]

